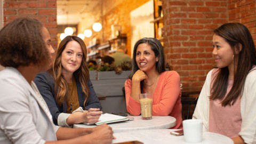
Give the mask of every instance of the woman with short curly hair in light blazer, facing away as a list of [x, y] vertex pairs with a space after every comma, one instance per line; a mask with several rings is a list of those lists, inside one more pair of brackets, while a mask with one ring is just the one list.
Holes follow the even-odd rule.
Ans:
[[[0, 143], [111, 143], [111, 127], [71, 129], [53, 124], [33, 79], [49, 69], [54, 50], [36, 19], [18, 18], [0, 30]], [[67, 134], [68, 133], [68, 134]], [[57, 141], [58, 140], [58, 141]]]

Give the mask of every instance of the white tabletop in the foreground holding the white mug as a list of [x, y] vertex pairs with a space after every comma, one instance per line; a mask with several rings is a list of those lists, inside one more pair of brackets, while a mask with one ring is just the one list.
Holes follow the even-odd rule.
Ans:
[[[161, 130], [140, 130], [140, 131], [127, 131], [114, 133], [116, 139], [112, 143], [125, 142], [138, 140], [144, 144], [151, 143], [178, 143], [178, 144], [189, 144], [184, 141], [184, 136], [171, 135], [170, 132], [175, 131], [174, 129], [161, 129]], [[231, 144], [233, 140], [218, 133], [203, 132], [203, 141], [197, 144]]]

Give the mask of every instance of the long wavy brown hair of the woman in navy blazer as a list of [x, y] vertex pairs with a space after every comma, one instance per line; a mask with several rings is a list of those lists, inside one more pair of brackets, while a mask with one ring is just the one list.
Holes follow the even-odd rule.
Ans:
[[83, 51], [83, 59], [81, 62], [81, 66], [74, 72], [74, 76], [78, 77], [79, 82], [82, 86], [82, 91], [84, 92], [84, 106], [86, 105], [87, 100], [89, 99], [89, 88], [87, 86], [87, 81], [89, 80], [89, 69], [86, 66], [86, 46], [84, 44], [84, 41], [77, 37], [77, 36], [67, 36], [65, 37], [58, 47], [58, 51], [56, 54], [56, 58], [53, 62], [52, 68], [49, 70], [50, 75], [53, 77], [55, 86], [54, 86], [54, 92], [55, 92], [55, 100], [59, 105], [61, 105], [65, 100], [67, 100], [67, 94], [68, 94], [68, 86], [67, 82], [65, 81], [63, 75], [62, 75], [62, 65], [61, 65], [61, 54], [65, 50], [68, 42], [70, 41], [76, 41], [78, 42]]

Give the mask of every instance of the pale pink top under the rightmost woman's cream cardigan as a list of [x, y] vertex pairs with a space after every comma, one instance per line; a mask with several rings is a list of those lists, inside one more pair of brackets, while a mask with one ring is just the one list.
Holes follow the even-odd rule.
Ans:
[[[213, 71], [212, 75], [215, 71]], [[213, 77], [213, 76], [212, 76]], [[234, 81], [228, 82], [228, 89], [225, 97], [231, 90]], [[220, 100], [210, 100], [209, 109], [209, 132], [220, 133], [229, 138], [239, 136], [241, 131], [242, 117], [241, 117], [241, 98], [238, 98], [233, 106], [221, 106]]]

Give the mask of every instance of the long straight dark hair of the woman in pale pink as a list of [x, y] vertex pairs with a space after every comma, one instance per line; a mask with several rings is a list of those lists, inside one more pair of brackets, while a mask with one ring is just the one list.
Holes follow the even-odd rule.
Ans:
[[[253, 65], [256, 65], [255, 45], [250, 31], [241, 23], [225, 23], [214, 30], [214, 33], [223, 37], [233, 49], [234, 53], [234, 83], [227, 93], [228, 67], [219, 68], [211, 89], [211, 100], [219, 99], [222, 106], [231, 106], [242, 94], [245, 79]], [[242, 46], [242, 47], [241, 47]]]

